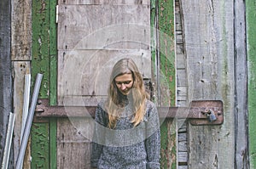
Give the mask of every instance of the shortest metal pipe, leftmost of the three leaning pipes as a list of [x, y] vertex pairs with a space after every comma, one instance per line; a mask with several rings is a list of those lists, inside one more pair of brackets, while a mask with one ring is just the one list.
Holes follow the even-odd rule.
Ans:
[[7, 169], [9, 165], [9, 152], [12, 144], [14, 127], [15, 127], [15, 114], [10, 112], [5, 147], [3, 151], [2, 169]]

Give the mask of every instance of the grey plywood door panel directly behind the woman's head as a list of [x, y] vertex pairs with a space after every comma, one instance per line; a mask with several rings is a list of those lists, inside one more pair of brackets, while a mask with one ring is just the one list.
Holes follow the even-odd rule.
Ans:
[[[121, 58], [132, 58], [143, 77], [151, 78], [148, 50], [59, 51], [58, 104], [83, 105], [86, 97], [107, 96], [111, 70]], [[77, 100], [73, 102], [72, 99]]]

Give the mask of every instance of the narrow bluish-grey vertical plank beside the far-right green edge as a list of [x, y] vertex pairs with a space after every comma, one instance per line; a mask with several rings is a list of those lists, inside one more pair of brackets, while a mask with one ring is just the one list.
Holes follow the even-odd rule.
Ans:
[[[235, 11], [235, 93], [236, 93], [236, 168], [249, 168], [247, 128], [247, 44], [245, 2], [237, 0]], [[243, 90], [241, 90], [243, 88]]]

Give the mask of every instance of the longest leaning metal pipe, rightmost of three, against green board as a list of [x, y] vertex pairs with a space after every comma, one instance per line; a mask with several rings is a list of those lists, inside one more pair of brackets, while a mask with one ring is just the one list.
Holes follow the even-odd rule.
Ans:
[[42, 74], [38, 74], [38, 76], [37, 76], [37, 80], [36, 80], [33, 95], [32, 95], [32, 102], [31, 102], [31, 105], [30, 105], [30, 109], [29, 109], [29, 112], [28, 112], [27, 119], [26, 119], [26, 127], [25, 127], [23, 137], [22, 137], [22, 140], [21, 140], [20, 151], [19, 151], [19, 155], [18, 155], [18, 159], [17, 159], [17, 162], [16, 162], [15, 169], [21, 169], [22, 168], [23, 159], [24, 159], [24, 155], [25, 155], [25, 151], [26, 151], [26, 144], [27, 144], [27, 140], [29, 138], [30, 129], [31, 129], [31, 126], [32, 126], [32, 120], [33, 120], [34, 112], [35, 112], [36, 105], [37, 105], [37, 102], [38, 102], [38, 93], [39, 93], [39, 89], [40, 89], [40, 86], [41, 86], [42, 77], [43, 77]]

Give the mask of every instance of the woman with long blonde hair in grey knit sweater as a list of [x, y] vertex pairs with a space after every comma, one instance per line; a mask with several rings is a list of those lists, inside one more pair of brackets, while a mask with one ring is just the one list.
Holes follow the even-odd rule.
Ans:
[[132, 59], [120, 59], [110, 76], [108, 99], [98, 104], [93, 168], [160, 168], [160, 122]]

